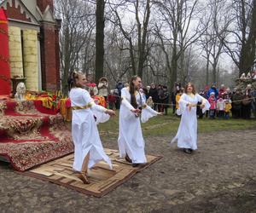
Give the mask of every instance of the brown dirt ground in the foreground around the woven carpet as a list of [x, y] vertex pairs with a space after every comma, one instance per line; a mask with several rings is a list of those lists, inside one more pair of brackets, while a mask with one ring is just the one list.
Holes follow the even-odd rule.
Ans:
[[164, 158], [101, 199], [2, 162], [0, 212], [256, 212], [256, 130], [201, 134], [192, 155], [170, 146], [172, 136], [146, 138], [147, 153]]

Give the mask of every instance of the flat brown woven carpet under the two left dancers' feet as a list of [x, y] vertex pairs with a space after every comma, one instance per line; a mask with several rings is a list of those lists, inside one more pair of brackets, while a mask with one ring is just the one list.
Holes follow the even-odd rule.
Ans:
[[108, 164], [105, 162], [99, 162], [88, 172], [90, 184], [84, 184], [80, 181], [73, 171], [73, 154], [40, 165], [36, 169], [28, 170], [21, 174], [72, 188], [80, 193], [102, 197], [161, 158], [160, 156], [147, 155], [147, 164], [143, 164], [140, 167], [132, 167], [125, 159], [119, 158], [117, 150], [105, 149], [105, 152], [112, 160], [113, 170], [109, 170]]

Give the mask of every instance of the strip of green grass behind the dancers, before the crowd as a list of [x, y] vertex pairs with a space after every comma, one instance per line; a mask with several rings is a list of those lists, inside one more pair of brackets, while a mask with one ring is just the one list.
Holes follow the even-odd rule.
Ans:
[[[179, 123], [180, 118], [171, 113], [169, 115], [154, 117], [147, 123], [142, 124], [143, 135], [145, 137], [173, 135], [177, 132]], [[256, 129], [256, 119], [198, 119], [198, 131], [200, 133], [248, 129]], [[117, 138], [119, 134], [119, 112], [117, 112], [117, 116], [111, 118], [107, 123], [100, 124], [99, 130], [101, 135]]]

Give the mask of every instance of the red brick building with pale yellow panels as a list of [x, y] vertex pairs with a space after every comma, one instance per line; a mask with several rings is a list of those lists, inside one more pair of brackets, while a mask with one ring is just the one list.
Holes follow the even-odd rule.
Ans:
[[60, 89], [59, 29], [54, 0], [0, 0], [9, 20], [11, 77], [30, 90]]

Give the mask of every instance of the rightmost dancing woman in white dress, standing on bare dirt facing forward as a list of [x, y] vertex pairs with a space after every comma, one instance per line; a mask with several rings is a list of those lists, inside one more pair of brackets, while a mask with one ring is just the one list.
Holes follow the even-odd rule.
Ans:
[[195, 93], [193, 83], [187, 83], [184, 90], [178, 101], [179, 109], [177, 109], [177, 114], [182, 117], [177, 135], [172, 139], [172, 142], [177, 141], [177, 147], [183, 148], [184, 153], [192, 153], [193, 150], [197, 149], [197, 103], [201, 102], [200, 107], [203, 113], [209, 109], [210, 104], [201, 95]]

